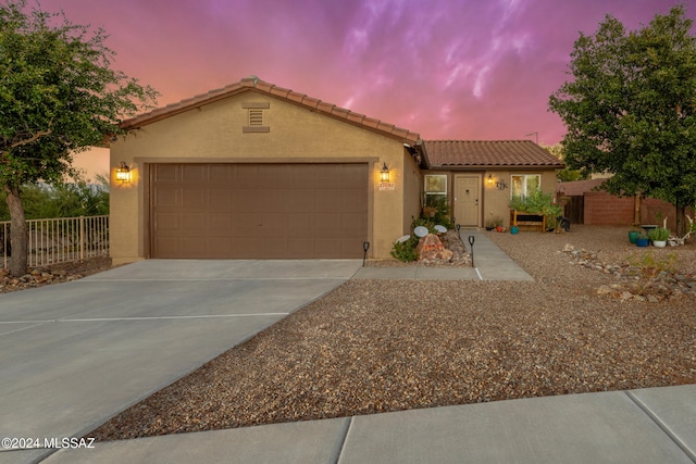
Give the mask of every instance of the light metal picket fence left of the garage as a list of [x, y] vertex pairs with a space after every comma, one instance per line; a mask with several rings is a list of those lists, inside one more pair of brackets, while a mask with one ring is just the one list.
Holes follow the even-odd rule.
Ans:
[[[109, 216], [28, 220], [27, 265], [32, 267], [109, 255]], [[2, 266], [12, 249], [10, 222], [0, 222]]]

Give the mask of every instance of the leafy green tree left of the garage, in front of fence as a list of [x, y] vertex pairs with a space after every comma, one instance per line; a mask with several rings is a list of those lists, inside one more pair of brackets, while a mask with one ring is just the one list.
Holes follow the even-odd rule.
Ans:
[[72, 174], [72, 154], [123, 134], [119, 122], [157, 92], [110, 68], [102, 29], [62, 13], [0, 3], [0, 187], [12, 221], [10, 273], [26, 271], [24, 186]]

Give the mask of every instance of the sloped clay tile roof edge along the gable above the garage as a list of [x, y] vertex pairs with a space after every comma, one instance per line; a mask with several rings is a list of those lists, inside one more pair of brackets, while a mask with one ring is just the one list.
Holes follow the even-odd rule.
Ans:
[[191, 109], [201, 106], [203, 104], [213, 103], [225, 98], [244, 93], [247, 91], [256, 91], [273, 96], [290, 103], [304, 106], [311, 111], [322, 113], [330, 117], [334, 117], [339, 121], [345, 121], [349, 124], [364, 127], [366, 129], [383, 134], [387, 137], [402, 140], [407, 143], [415, 143], [420, 136], [400, 127], [396, 127], [394, 124], [384, 123], [380, 120], [368, 117], [364, 114], [356, 113], [345, 108], [337, 106], [333, 103], [328, 103], [312, 97], [308, 97], [303, 93], [278, 87], [274, 84], [260, 80], [256, 76], [250, 76], [241, 79], [238, 83], [231, 84], [221, 89], [210, 90], [207, 93], [198, 95], [186, 100], [182, 100], [177, 103], [172, 103], [157, 110], [152, 110], [149, 113], [140, 114], [130, 120], [126, 120], [121, 123], [121, 126], [126, 129], [137, 128], [147, 124], [154, 123], [165, 117], [173, 116], [175, 114], [189, 111]]

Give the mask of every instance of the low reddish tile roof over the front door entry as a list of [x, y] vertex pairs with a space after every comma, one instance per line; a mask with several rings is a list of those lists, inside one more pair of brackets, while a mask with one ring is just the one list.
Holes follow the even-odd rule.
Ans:
[[423, 147], [433, 167], [566, 167], [532, 140], [423, 140]]

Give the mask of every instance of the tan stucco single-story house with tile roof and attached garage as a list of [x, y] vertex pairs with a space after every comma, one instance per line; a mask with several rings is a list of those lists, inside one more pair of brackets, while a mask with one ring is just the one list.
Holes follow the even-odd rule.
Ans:
[[531, 141], [423, 141], [254, 76], [123, 127], [134, 133], [111, 145], [115, 264], [388, 258], [425, 200], [481, 226], [505, 216], [510, 192], [552, 190], [562, 167]]

